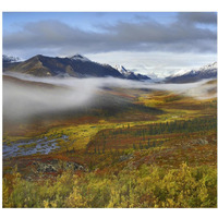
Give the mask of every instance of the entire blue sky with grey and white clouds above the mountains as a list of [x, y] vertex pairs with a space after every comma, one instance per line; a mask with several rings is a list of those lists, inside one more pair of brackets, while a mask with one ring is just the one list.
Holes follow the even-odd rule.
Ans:
[[3, 12], [3, 53], [88, 59], [165, 77], [217, 60], [216, 12]]

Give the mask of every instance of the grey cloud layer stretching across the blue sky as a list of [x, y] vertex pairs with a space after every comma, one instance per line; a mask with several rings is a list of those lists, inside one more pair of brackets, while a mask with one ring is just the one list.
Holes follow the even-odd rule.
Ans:
[[5, 51], [70, 55], [110, 51], [216, 52], [216, 13], [178, 13], [172, 22], [154, 20], [96, 25], [80, 29], [59, 21], [26, 23], [3, 36]]

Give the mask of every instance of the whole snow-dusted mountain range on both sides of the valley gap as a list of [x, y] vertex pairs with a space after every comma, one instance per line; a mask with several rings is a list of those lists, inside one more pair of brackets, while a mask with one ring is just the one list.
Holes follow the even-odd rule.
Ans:
[[[3, 72], [17, 72], [35, 76], [73, 76], [73, 77], [118, 77], [134, 81], [150, 80], [147, 75], [136, 74], [123, 65], [112, 68], [75, 55], [66, 58], [37, 55], [28, 60], [3, 55]], [[179, 71], [164, 80], [165, 83], [193, 83], [204, 78], [217, 77], [217, 62], [196, 70]]]

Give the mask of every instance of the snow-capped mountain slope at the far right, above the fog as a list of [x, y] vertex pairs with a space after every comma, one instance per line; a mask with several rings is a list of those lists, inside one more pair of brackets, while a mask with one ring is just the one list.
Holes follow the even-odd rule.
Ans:
[[167, 83], [193, 83], [203, 78], [217, 77], [217, 62], [205, 65], [197, 70], [180, 71], [174, 75], [166, 77]]

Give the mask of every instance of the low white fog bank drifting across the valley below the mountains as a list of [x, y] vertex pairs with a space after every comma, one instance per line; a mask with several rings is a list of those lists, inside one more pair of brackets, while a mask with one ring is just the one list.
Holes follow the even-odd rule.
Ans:
[[[95, 102], [98, 90], [102, 88], [148, 88], [172, 90], [178, 94], [202, 98], [216, 84], [204, 85], [208, 81], [189, 84], [158, 84], [136, 82], [113, 77], [73, 78], [73, 77], [35, 77], [19, 73], [7, 73], [22, 81], [38, 82], [47, 85], [29, 85], [3, 80], [3, 116], [16, 119], [49, 111], [78, 109]], [[28, 84], [28, 85], [27, 85]], [[51, 86], [52, 85], [52, 86]], [[215, 96], [213, 96], [215, 97]]]

